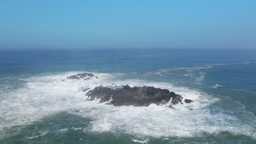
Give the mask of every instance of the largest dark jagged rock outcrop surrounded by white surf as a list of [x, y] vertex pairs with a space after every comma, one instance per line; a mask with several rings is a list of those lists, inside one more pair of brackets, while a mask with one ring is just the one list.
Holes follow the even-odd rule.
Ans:
[[[162, 105], [171, 100], [171, 105], [182, 103], [183, 97], [168, 89], [155, 87], [130, 87], [128, 85], [122, 88], [112, 89], [109, 87], [96, 87], [87, 94], [88, 100], [100, 99], [100, 103], [114, 106], [134, 105], [149, 106], [150, 104]], [[171, 106], [170, 105], [170, 106]]]

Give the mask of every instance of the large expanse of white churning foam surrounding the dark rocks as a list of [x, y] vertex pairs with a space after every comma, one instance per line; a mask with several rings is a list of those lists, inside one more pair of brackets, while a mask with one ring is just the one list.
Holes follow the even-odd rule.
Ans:
[[[170, 83], [115, 80], [116, 74], [97, 73], [95, 75], [99, 79], [61, 82], [67, 76], [79, 72], [44, 74], [24, 79], [27, 81], [26, 87], [7, 93], [8, 97], [4, 97], [0, 101], [0, 131], [4, 127], [25, 125], [57, 112], [68, 111], [81, 117], [93, 118], [94, 121], [90, 123], [90, 128], [86, 128], [87, 131], [92, 132], [112, 131], [113, 133], [121, 132], [139, 136], [168, 137], [230, 131], [235, 134], [255, 136], [252, 127], [242, 124], [236, 117], [224, 115], [222, 112], [212, 112], [209, 106], [216, 103], [218, 99], [212, 98], [206, 93], [186, 87], [175, 87]], [[115, 84], [113, 85], [113, 83]], [[154, 104], [148, 107], [117, 107], [96, 104], [97, 100], [86, 101], [85, 92], [82, 92], [83, 89], [92, 89], [100, 85], [120, 86], [126, 84], [169, 89], [181, 94], [183, 100], [194, 101], [190, 104], [174, 105], [175, 110]]]

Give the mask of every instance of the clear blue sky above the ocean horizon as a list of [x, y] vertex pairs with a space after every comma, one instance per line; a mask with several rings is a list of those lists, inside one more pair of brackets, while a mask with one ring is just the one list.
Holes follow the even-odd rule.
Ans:
[[0, 49], [256, 49], [254, 0], [0, 0]]

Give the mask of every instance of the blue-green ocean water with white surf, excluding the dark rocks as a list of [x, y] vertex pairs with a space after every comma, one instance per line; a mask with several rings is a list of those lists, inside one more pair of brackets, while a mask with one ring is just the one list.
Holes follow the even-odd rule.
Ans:
[[[83, 71], [99, 79], [61, 82]], [[256, 143], [256, 50], [2, 50], [0, 81], [0, 143]], [[194, 101], [85, 100], [112, 83]]]

